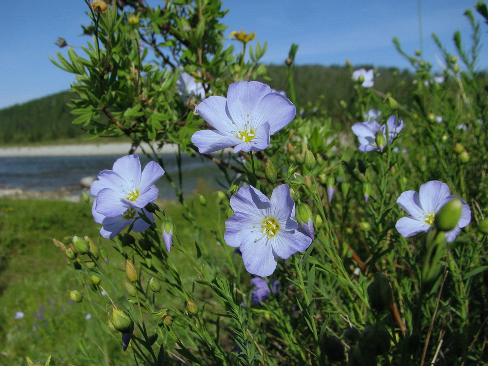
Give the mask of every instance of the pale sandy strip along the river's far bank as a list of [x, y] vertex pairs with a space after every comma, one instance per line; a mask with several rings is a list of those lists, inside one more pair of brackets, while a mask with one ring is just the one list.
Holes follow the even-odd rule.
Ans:
[[[146, 143], [142, 143], [144, 150], [150, 151]], [[159, 153], [172, 153], [177, 151], [176, 144], [164, 145]], [[131, 147], [130, 142], [91, 143], [80, 145], [45, 145], [0, 147], [0, 157], [16, 156], [78, 156], [78, 155], [125, 155]], [[136, 153], [141, 153], [138, 147]]]

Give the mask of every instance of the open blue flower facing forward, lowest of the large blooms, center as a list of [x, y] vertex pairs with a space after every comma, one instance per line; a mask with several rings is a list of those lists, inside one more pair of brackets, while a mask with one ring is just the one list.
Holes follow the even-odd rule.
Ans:
[[225, 242], [239, 247], [246, 270], [269, 276], [278, 258], [287, 259], [304, 251], [312, 239], [299, 231], [290, 188], [280, 185], [268, 199], [251, 185], [242, 187], [230, 199], [234, 214], [225, 221]]

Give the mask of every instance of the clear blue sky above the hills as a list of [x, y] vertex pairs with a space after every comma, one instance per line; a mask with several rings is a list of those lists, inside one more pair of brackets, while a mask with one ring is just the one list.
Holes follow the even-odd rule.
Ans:
[[[150, 4], [161, 1], [149, 0]], [[254, 31], [256, 39], [268, 41], [266, 63], [282, 63], [291, 43], [298, 43], [298, 64], [344, 64], [396, 66], [407, 61], [393, 47], [397, 36], [408, 53], [420, 48], [417, 0], [223, 0], [230, 8], [224, 24], [232, 30]], [[463, 12], [474, 11], [475, 0], [421, 0], [425, 59], [436, 70], [438, 50], [430, 35], [436, 33], [451, 52], [456, 30], [469, 41], [470, 29]], [[60, 49], [54, 44], [64, 37], [73, 45], [84, 45], [81, 24], [88, 24], [83, 0], [17, 0], [2, 3], [0, 24], [0, 108], [27, 102], [69, 89], [73, 75], [54, 66]], [[477, 14], [476, 14], [477, 16]], [[477, 16], [480, 20], [480, 17]], [[482, 43], [488, 27], [482, 24]], [[229, 41], [230, 42], [230, 41]], [[469, 45], [469, 43], [467, 43]], [[488, 47], [488, 46], [487, 46]], [[488, 69], [488, 48], [478, 66]], [[63, 54], [66, 48], [62, 49]]]

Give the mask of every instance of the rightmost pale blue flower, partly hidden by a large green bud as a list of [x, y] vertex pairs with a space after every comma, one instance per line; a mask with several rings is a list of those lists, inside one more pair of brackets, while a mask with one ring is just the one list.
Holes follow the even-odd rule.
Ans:
[[[416, 191], [403, 192], [398, 197], [397, 203], [410, 216], [398, 220], [395, 224], [396, 229], [405, 238], [428, 231], [434, 223], [435, 214], [455, 197], [451, 196], [449, 186], [439, 181], [422, 184], [418, 193]], [[463, 203], [461, 218], [454, 229], [446, 232], [448, 242], [452, 242], [461, 228], [471, 221], [471, 210], [468, 203], [463, 199], [461, 202]]]

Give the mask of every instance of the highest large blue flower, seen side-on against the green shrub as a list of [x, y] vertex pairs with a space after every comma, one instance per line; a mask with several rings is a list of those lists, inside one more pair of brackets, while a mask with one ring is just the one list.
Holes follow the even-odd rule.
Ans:
[[197, 131], [191, 141], [201, 153], [226, 147], [259, 151], [269, 146], [269, 136], [284, 128], [296, 114], [295, 105], [280, 93], [258, 81], [229, 85], [227, 98], [211, 96], [196, 111], [215, 130]]

